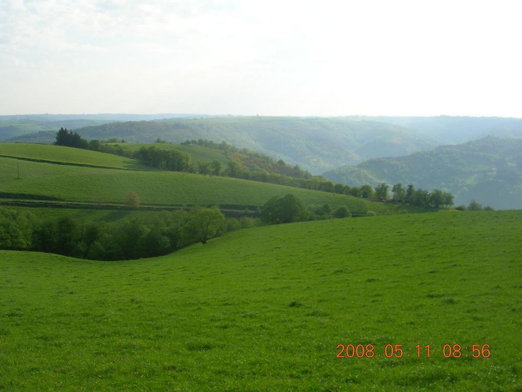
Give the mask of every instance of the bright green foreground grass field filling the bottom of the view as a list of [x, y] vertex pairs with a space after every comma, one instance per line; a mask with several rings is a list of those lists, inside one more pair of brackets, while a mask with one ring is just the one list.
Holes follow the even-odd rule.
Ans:
[[0, 390], [520, 390], [521, 239], [522, 211], [438, 212], [124, 262], [0, 251]]

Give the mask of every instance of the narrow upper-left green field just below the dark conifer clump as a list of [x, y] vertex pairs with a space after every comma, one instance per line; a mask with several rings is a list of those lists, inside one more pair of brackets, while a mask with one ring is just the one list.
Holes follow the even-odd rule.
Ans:
[[0, 143], [0, 155], [121, 169], [152, 170], [152, 168], [140, 165], [137, 160], [131, 158], [80, 148], [45, 144]]

